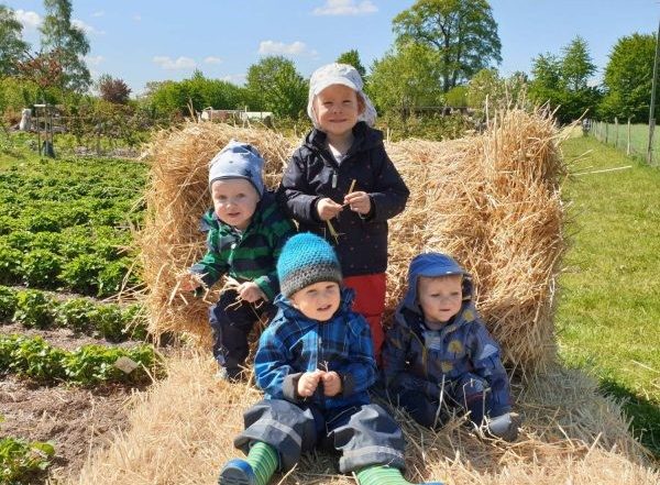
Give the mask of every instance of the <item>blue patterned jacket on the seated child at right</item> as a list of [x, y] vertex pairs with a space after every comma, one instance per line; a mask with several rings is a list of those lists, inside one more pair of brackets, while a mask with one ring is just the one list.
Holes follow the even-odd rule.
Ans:
[[[443, 377], [446, 389], [451, 392], [452, 384], [470, 373], [491, 387], [496, 416], [508, 412], [508, 376], [501, 361], [499, 345], [486, 330], [472, 301], [470, 276], [463, 276], [461, 310], [436, 332], [425, 326], [417, 301], [419, 276], [418, 273], [409, 275], [407, 294], [387, 331], [383, 346], [385, 384], [395, 394], [421, 390], [431, 400], [437, 400]], [[432, 349], [427, 343], [431, 340], [435, 342]]]

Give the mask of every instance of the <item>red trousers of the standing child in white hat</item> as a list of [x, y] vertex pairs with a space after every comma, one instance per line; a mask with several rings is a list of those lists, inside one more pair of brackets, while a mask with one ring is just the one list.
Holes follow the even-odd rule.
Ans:
[[345, 277], [344, 286], [355, 290], [353, 311], [362, 315], [369, 322], [374, 343], [374, 357], [381, 366], [381, 348], [385, 341], [383, 332], [383, 312], [385, 311], [385, 273]]

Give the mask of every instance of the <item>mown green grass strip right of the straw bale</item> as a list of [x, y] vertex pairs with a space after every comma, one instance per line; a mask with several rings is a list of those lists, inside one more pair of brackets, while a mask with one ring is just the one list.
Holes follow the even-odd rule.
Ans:
[[[592, 137], [568, 140], [562, 150], [582, 175], [563, 187], [573, 206], [560, 356], [624, 398], [634, 433], [660, 456], [660, 170]], [[632, 167], [588, 173], [625, 165]]]

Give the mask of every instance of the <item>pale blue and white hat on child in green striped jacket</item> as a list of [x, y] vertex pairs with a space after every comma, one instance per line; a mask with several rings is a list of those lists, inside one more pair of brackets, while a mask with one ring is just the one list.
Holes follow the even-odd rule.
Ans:
[[264, 159], [254, 146], [231, 140], [209, 163], [209, 187], [216, 180], [244, 178], [261, 197], [264, 195], [263, 168]]

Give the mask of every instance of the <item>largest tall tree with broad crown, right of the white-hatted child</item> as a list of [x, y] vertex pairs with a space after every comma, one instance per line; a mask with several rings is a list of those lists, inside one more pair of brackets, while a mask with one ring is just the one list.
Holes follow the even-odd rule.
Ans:
[[486, 0], [417, 0], [393, 25], [397, 43], [414, 42], [437, 54], [443, 92], [502, 62], [497, 23]]

